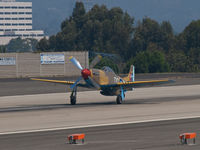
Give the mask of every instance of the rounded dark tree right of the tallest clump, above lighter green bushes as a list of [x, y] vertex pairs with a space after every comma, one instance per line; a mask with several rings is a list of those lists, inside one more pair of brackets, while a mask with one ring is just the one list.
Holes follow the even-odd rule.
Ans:
[[134, 30], [134, 37], [130, 44], [129, 58], [135, 56], [140, 51], [149, 50], [148, 48], [153, 44], [157, 50], [165, 53], [174, 48], [175, 36], [173, 28], [167, 21], [161, 24], [148, 17], [144, 18], [142, 22]]

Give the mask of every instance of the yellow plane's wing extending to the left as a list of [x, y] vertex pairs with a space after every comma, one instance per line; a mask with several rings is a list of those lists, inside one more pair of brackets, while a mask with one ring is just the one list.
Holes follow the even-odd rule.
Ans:
[[[42, 81], [42, 82], [49, 82], [49, 83], [58, 83], [58, 84], [65, 84], [65, 85], [73, 85], [74, 81], [62, 81], [62, 80], [50, 80], [50, 79], [37, 79], [37, 78], [31, 78], [31, 80], [34, 81]], [[88, 87], [86, 84], [78, 83], [77, 86], [80, 87]]]

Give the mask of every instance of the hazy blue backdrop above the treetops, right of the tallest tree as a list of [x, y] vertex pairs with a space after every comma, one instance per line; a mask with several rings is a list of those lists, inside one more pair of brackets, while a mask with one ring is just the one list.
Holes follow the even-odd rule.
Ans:
[[170, 21], [181, 32], [192, 20], [200, 19], [200, 0], [94, 0], [109, 8], [119, 6], [136, 20], [148, 16], [159, 22]]

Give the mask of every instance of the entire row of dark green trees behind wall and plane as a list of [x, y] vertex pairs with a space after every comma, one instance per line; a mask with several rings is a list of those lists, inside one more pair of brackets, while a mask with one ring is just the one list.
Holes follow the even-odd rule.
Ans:
[[[114, 53], [125, 60], [128, 69], [135, 64], [138, 73], [191, 72], [200, 70], [199, 41], [200, 20], [175, 35], [169, 21], [158, 23], [145, 17], [134, 26], [134, 18], [119, 7], [94, 5], [86, 12], [83, 3], [76, 2], [61, 31], [42, 39], [37, 49]], [[103, 62], [112, 64], [107, 59]]]

